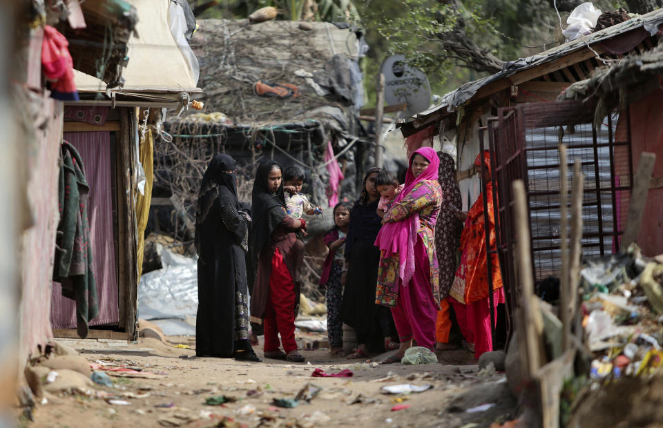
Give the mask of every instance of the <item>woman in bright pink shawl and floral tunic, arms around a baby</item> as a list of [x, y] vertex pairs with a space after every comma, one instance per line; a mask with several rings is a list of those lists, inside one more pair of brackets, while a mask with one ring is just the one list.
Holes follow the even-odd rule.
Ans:
[[383, 363], [400, 362], [412, 340], [433, 349], [439, 310], [435, 222], [440, 211], [440, 159], [430, 147], [412, 153], [405, 188], [383, 217], [376, 303], [391, 307], [401, 347]]

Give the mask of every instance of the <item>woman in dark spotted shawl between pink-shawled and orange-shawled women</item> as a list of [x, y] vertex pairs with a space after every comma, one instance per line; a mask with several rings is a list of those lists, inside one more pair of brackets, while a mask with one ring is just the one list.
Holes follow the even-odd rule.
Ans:
[[458, 265], [458, 247], [463, 224], [457, 219], [456, 211], [461, 209], [462, 201], [456, 181], [454, 158], [442, 152], [437, 152], [437, 155], [440, 158], [437, 181], [442, 189], [442, 204], [435, 226], [435, 251], [440, 268], [440, 311], [435, 324], [435, 349], [446, 351], [458, 347], [458, 344], [450, 343], [454, 316], [447, 297]]

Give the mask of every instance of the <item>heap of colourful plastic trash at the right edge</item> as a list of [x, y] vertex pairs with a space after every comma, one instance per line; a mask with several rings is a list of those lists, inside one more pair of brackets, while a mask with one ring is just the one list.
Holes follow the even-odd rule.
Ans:
[[581, 271], [582, 327], [593, 353], [590, 380], [653, 375], [663, 362], [663, 260], [628, 251]]

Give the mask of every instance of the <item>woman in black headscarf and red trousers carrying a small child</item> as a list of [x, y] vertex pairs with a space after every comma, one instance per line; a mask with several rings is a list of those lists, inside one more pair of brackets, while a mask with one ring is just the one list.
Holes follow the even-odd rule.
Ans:
[[[265, 358], [302, 362], [304, 357], [297, 351], [295, 341], [295, 318], [299, 311], [304, 243], [295, 232], [305, 230], [306, 222], [286, 214], [281, 166], [277, 162], [260, 163], [251, 199], [249, 272], [251, 277], [255, 273], [255, 278], [251, 278], [251, 321], [264, 325]], [[285, 352], [280, 351], [280, 342]]]

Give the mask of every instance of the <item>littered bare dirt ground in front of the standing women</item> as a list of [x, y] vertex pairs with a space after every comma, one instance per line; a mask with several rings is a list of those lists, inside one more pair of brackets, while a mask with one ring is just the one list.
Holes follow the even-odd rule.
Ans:
[[[191, 338], [167, 339], [173, 344], [195, 347]], [[19, 426], [470, 428], [510, 420], [515, 411], [506, 376], [480, 374], [472, 356], [465, 351], [439, 353], [439, 363], [414, 366], [361, 365], [362, 360], [330, 356], [326, 349], [301, 351], [307, 358], [302, 364], [195, 358], [193, 349], [150, 338], [119, 350], [78, 351], [90, 363], [140, 369], [136, 376], [153, 374], [146, 375], [150, 378], [112, 376], [113, 387], [95, 385], [92, 389], [97, 395], [105, 393], [102, 398], [48, 394], [48, 402], [35, 407], [34, 422], [21, 416]], [[260, 347], [256, 351], [262, 356]], [[372, 361], [383, 358], [376, 356]], [[351, 369], [354, 376], [313, 378], [311, 373], [316, 368], [328, 373]], [[300, 401], [291, 409], [273, 404], [275, 398], [295, 398], [309, 384], [321, 389], [310, 402]], [[432, 389], [409, 395], [381, 393], [382, 387], [400, 384], [432, 385]], [[206, 405], [206, 399], [213, 396], [225, 396], [231, 402]], [[128, 404], [111, 404], [113, 398]], [[491, 404], [487, 410], [467, 411]], [[398, 405], [410, 407], [394, 410]]]

